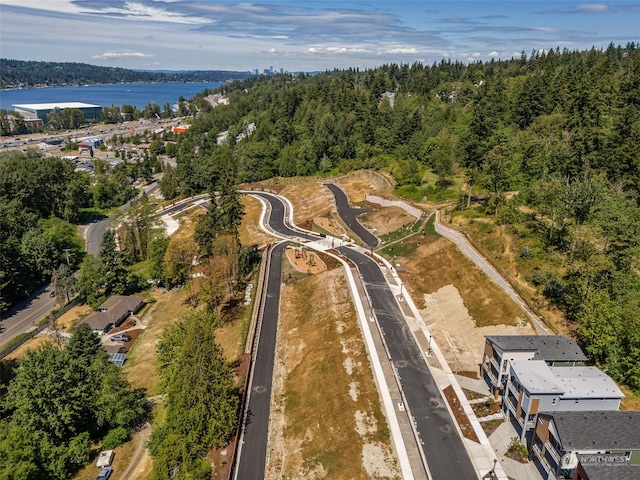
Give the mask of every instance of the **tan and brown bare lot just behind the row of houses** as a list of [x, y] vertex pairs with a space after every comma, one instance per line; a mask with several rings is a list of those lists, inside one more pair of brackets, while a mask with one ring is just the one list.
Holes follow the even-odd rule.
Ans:
[[524, 313], [448, 240], [421, 235], [414, 253], [396, 257], [422, 320], [454, 371], [478, 371], [485, 335], [529, 334]]

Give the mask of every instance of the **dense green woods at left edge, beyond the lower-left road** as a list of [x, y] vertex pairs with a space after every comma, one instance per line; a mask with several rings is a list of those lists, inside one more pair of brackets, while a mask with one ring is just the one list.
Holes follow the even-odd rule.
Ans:
[[[76, 225], [133, 198], [132, 183], [161, 168], [153, 154], [115, 166], [95, 159], [93, 176], [75, 167], [71, 160], [42, 157], [35, 149], [3, 152], [0, 312], [58, 275], [62, 283], [71, 282], [84, 255]], [[92, 291], [96, 298], [100, 292]]]

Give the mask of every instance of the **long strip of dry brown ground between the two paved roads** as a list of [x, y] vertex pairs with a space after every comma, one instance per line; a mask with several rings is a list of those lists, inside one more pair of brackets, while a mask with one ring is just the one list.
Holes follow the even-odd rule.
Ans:
[[266, 478], [399, 478], [341, 269], [283, 287]]

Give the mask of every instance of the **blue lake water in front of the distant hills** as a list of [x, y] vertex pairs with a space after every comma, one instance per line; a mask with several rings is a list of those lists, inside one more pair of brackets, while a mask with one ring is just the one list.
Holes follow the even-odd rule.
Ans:
[[149, 102], [160, 108], [169, 102], [173, 107], [178, 98], [192, 98], [207, 88], [215, 88], [221, 82], [212, 83], [118, 83], [113, 85], [87, 85], [86, 87], [47, 87], [0, 90], [0, 108], [13, 110], [12, 105], [29, 103], [82, 102], [110, 107], [133, 105], [144, 110]]

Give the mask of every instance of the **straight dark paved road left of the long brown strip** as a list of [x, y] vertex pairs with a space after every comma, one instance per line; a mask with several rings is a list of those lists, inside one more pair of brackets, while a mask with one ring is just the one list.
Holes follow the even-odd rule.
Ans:
[[288, 242], [273, 248], [266, 282], [267, 296], [258, 330], [255, 358], [252, 364], [248, 405], [234, 479], [262, 480], [265, 476], [271, 383], [276, 350], [280, 282], [282, 281], [282, 252]]

